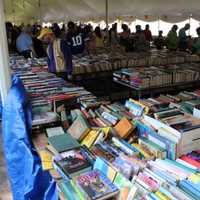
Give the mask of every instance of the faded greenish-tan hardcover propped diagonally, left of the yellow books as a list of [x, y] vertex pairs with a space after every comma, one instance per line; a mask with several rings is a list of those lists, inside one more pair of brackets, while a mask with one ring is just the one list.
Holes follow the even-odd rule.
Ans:
[[87, 120], [82, 115], [79, 115], [69, 127], [67, 132], [75, 139], [81, 141], [89, 130], [90, 128]]

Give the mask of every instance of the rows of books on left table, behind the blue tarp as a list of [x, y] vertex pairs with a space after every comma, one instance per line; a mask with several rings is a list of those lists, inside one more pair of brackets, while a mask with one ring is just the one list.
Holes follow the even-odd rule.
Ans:
[[97, 98], [83, 87], [77, 87], [56, 75], [48, 73], [46, 59], [25, 60], [10, 58], [12, 72], [24, 84], [33, 108], [33, 125], [51, 123], [58, 119], [60, 106], [65, 108], [84, 103], [94, 106]]

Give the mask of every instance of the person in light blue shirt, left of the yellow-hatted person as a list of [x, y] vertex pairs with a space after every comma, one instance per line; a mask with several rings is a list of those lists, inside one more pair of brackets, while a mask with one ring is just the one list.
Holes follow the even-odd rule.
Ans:
[[31, 52], [35, 55], [30, 27], [26, 26], [23, 28], [21, 34], [17, 38], [16, 46], [20, 55], [25, 58], [31, 58]]

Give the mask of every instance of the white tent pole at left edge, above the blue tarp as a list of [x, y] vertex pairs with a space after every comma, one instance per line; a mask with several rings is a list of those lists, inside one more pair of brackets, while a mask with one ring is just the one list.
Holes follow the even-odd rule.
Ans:
[[9, 69], [9, 57], [8, 57], [8, 45], [5, 29], [5, 16], [4, 16], [4, 6], [3, 0], [0, 0], [0, 91], [1, 99], [4, 105], [6, 96], [8, 94], [11, 78]]

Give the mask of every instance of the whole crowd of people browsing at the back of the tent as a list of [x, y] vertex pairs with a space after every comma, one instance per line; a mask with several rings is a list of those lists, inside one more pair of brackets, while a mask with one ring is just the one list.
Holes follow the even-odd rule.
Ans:
[[10, 52], [17, 52], [25, 58], [47, 57], [49, 71], [58, 73], [59, 76], [71, 79], [72, 55], [89, 54], [97, 48], [104, 46], [121, 46], [126, 52], [148, 52], [152, 46], [161, 50], [188, 51], [200, 54], [200, 28], [197, 28], [198, 38], [192, 39], [186, 34], [190, 24], [186, 24], [178, 31], [178, 26], [173, 25], [166, 37], [159, 31], [153, 37], [150, 26], [147, 24], [142, 30], [136, 25], [136, 31], [131, 33], [126, 24], [122, 24], [122, 32], [117, 32], [117, 23], [107, 30], [97, 26], [77, 25], [70, 21], [67, 27], [59, 27], [54, 23], [50, 28], [41, 25], [13, 26], [6, 23], [8, 47]]

